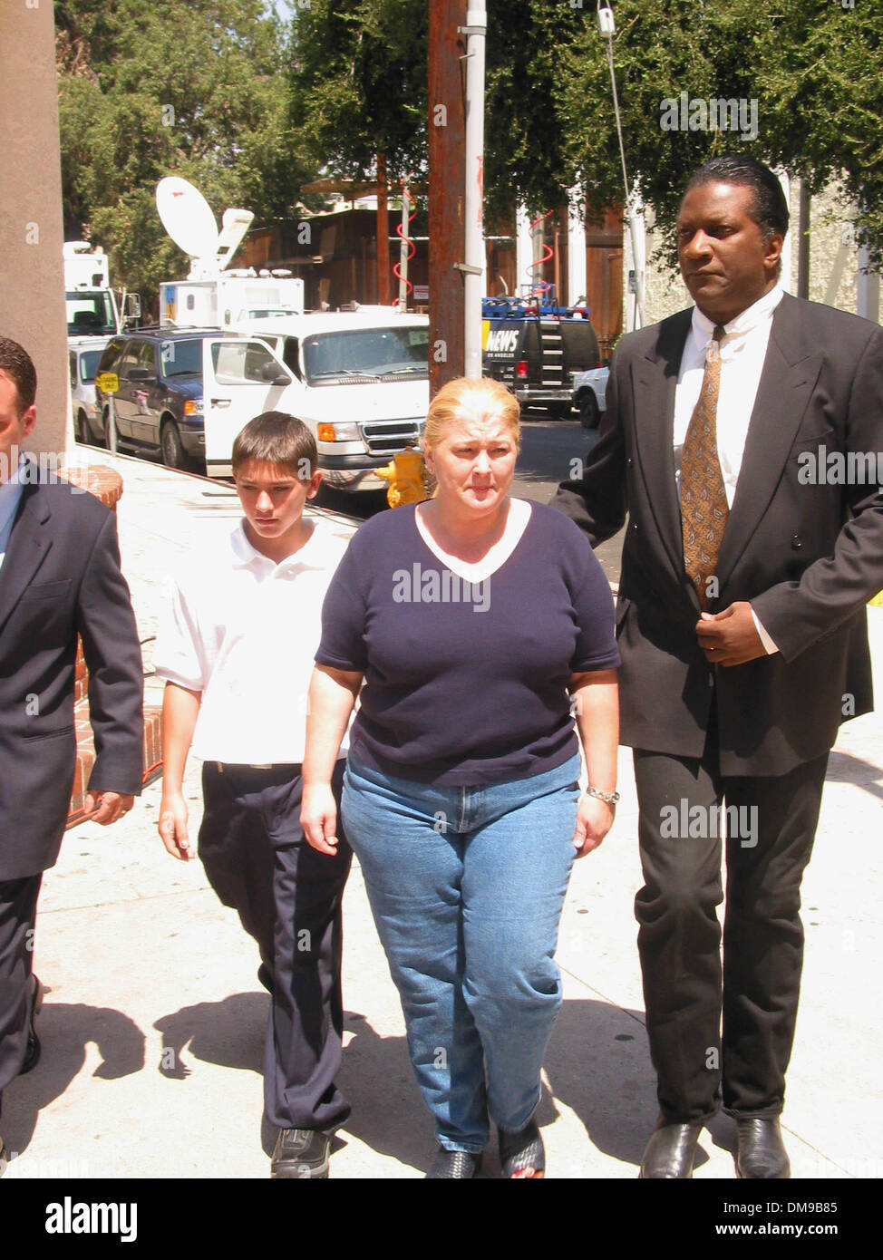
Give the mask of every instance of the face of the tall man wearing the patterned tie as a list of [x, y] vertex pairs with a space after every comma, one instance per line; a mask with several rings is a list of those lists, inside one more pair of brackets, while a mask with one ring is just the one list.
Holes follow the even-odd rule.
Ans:
[[778, 232], [766, 242], [752, 218], [747, 184], [699, 184], [680, 203], [678, 258], [694, 302], [715, 324], [728, 324], [776, 284]]

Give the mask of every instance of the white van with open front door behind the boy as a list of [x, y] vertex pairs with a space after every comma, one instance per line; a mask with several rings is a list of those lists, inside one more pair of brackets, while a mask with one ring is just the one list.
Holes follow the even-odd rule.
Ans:
[[343, 490], [385, 489], [374, 469], [418, 441], [430, 406], [430, 321], [387, 309], [268, 316], [203, 344], [205, 466], [231, 475], [239, 430], [285, 411], [316, 435], [319, 467]]

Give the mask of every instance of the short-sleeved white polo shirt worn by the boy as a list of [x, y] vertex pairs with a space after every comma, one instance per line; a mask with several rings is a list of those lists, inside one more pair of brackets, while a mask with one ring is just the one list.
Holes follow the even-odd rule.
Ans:
[[345, 541], [315, 522], [304, 547], [275, 564], [239, 523], [220, 556], [188, 562], [160, 622], [154, 665], [159, 678], [203, 693], [195, 756], [304, 761], [322, 600], [345, 551]]

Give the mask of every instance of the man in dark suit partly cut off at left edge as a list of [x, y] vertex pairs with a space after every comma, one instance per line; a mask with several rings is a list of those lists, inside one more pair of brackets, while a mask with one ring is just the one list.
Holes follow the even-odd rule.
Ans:
[[53, 475], [40, 481], [21, 455], [35, 392], [29, 355], [0, 336], [0, 1100], [40, 1050], [34, 921], [73, 788], [77, 635], [96, 746], [87, 816], [121, 818], [142, 771], [141, 649], [116, 522], [93, 495]]

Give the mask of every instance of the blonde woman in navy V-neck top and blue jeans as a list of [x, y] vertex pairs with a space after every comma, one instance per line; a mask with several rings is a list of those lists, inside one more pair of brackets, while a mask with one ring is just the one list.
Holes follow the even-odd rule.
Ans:
[[329, 587], [301, 820], [335, 852], [330, 777], [360, 693], [341, 811], [436, 1121], [428, 1176], [474, 1177], [490, 1116], [504, 1176], [542, 1177], [558, 921], [618, 799], [613, 605], [576, 525], [509, 496], [504, 386], [450, 382], [423, 445], [436, 496], [367, 522]]

